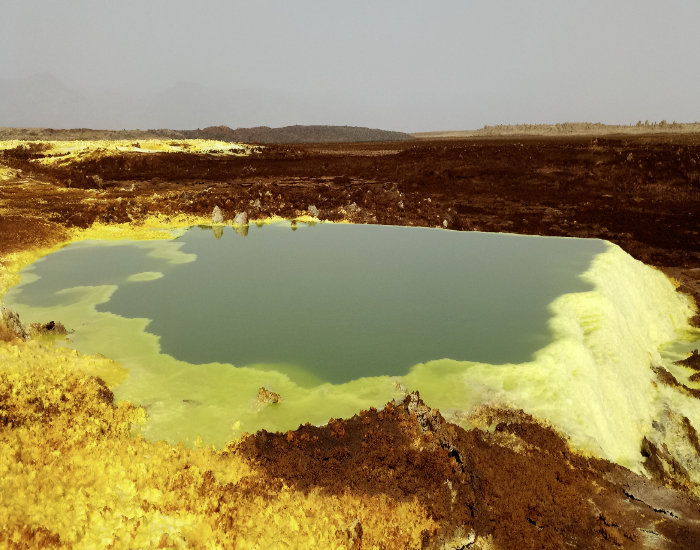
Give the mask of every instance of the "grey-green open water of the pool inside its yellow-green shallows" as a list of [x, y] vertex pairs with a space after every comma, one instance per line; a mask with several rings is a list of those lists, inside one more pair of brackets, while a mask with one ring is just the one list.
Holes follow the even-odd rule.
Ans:
[[252, 225], [247, 236], [225, 227], [219, 239], [195, 227], [175, 242], [196, 261], [140, 243], [70, 245], [34, 264], [39, 278], [16, 300], [66, 306], [66, 289], [115, 285], [97, 310], [150, 319], [164, 354], [337, 384], [434, 359], [528, 361], [551, 341], [548, 305], [590, 290], [579, 276], [605, 250], [591, 239], [332, 224]]

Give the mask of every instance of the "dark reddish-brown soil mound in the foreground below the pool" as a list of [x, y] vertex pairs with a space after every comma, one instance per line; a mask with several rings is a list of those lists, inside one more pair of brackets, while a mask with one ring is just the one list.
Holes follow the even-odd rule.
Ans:
[[655, 548], [660, 536], [700, 547], [697, 499], [583, 458], [523, 413], [467, 432], [413, 394], [323, 427], [261, 431], [239, 452], [300, 491], [417, 498], [441, 525], [429, 547], [458, 528], [497, 548]]

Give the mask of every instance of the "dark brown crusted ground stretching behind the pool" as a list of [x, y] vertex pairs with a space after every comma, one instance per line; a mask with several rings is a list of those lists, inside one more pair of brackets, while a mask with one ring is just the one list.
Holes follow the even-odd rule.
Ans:
[[[0, 187], [2, 252], [97, 220], [211, 216], [214, 206], [225, 219], [242, 209], [253, 219], [291, 219], [315, 205], [327, 220], [604, 238], [651, 265], [700, 268], [697, 134], [269, 145], [250, 157], [125, 153], [62, 168], [33, 162], [44, 154], [35, 149], [3, 157], [21, 173]], [[99, 196], [32, 185], [94, 187], [95, 175]], [[256, 182], [269, 184], [271, 196]], [[259, 209], [250, 206], [256, 198]], [[686, 279], [697, 294], [700, 280]]]

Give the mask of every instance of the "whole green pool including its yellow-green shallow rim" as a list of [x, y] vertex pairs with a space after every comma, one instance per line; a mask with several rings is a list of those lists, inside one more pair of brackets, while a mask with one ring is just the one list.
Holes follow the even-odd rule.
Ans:
[[[170, 241], [71, 244], [23, 270], [5, 303], [25, 323], [74, 329], [58, 345], [128, 369], [115, 397], [147, 407], [150, 439], [221, 446], [243, 431], [322, 424], [400, 397], [398, 384], [456, 418], [499, 402], [590, 424], [596, 406], [576, 404], [572, 390], [578, 377], [579, 398], [605, 391], [590, 380], [607, 360], [595, 335], [608, 321], [591, 270], [629, 261], [593, 239], [194, 227]], [[685, 310], [674, 306], [654, 352], [678, 339]], [[262, 386], [283, 401], [258, 404]], [[581, 437], [603, 447], [589, 432]]]

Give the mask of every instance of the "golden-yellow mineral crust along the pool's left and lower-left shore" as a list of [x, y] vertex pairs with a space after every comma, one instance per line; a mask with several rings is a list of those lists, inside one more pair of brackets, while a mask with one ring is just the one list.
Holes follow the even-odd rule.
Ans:
[[[70, 242], [168, 239], [169, 231], [154, 231], [163, 218], [95, 225], [72, 231]], [[183, 216], [167, 223], [169, 230], [196, 224], [211, 220]], [[67, 244], [4, 257], [0, 298], [19, 282], [20, 269]], [[268, 486], [235, 453], [236, 442], [216, 451], [132, 435], [144, 422], [143, 409], [106, 403], [93, 378], [113, 386], [120, 370], [101, 356], [36, 341], [0, 342], [0, 393], [9, 396], [0, 414], [9, 411], [12, 422], [0, 429], [0, 546], [39, 546], [58, 536], [66, 548], [350, 548], [346, 530], [359, 520], [368, 548], [386, 542], [420, 548], [421, 534], [437, 529], [416, 500]], [[42, 421], [37, 400], [53, 411], [51, 422]], [[250, 486], [257, 489], [245, 490]]]

